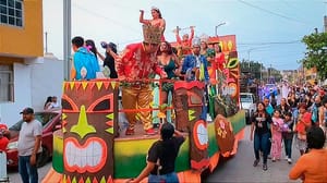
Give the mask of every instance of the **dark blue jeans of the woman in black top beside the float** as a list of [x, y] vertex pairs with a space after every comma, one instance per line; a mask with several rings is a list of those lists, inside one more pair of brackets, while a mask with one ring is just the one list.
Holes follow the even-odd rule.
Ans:
[[269, 150], [269, 133], [257, 134], [254, 133], [254, 155], [255, 159], [259, 160], [259, 150], [263, 151], [264, 163], [267, 163]]

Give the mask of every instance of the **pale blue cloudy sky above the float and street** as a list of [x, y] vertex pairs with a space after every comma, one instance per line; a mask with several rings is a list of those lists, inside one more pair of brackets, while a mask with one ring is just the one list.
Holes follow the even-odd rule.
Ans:
[[[63, 1], [43, 0], [44, 32], [48, 52], [63, 58]], [[71, 0], [72, 37], [112, 41], [122, 50], [143, 40], [140, 10], [152, 19], [150, 9], [160, 9], [166, 20], [165, 37], [174, 41], [172, 29], [195, 26], [203, 34], [235, 35], [240, 60], [263, 63], [265, 68], [296, 70], [304, 58], [303, 36], [317, 28], [324, 32], [326, 0]], [[190, 33], [185, 28], [181, 35]], [[46, 35], [46, 34], [45, 34]], [[46, 40], [46, 39], [45, 39]], [[46, 46], [47, 45], [47, 46]]]

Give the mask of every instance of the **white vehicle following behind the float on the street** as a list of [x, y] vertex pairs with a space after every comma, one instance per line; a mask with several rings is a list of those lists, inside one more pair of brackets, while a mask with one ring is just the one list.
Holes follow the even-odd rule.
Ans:
[[241, 109], [245, 110], [246, 124], [251, 123], [251, 118], [256, 110], [255, 97], [252, 93], [240, 93]]

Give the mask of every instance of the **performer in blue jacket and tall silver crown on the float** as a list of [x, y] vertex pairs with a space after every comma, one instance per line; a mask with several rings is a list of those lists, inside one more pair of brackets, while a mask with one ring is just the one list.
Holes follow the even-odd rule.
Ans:
[[[206, 85], [209, 84], [209, 74], [208, 74], [208, 61], [207, 59], [199, 53], [201, 50], [201, 40], [195, 37], [192, 42], [192, 54], [187, 54], [184, 59], [181, 74], [185, 74], [186, 81], [202, 81]], [[206, 89], [205, 89], [206, 91]], [[202, 119], [206, 120], [206, 101], [203, 109]]]

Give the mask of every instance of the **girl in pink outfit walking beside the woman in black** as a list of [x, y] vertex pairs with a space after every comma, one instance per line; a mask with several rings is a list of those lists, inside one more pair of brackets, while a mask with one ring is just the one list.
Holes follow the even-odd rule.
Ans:
[[272, 114], [272, 123], [270, 124], [270, 130], [271, 130], [271, 156], [272, 156], [272, 161], [276, 161], [276, 159], [281, 158], [281, 132], [282, 132], [282, 126], [283, 126], [283, 119], [280, 118], [280, 111], [275, 110]]

